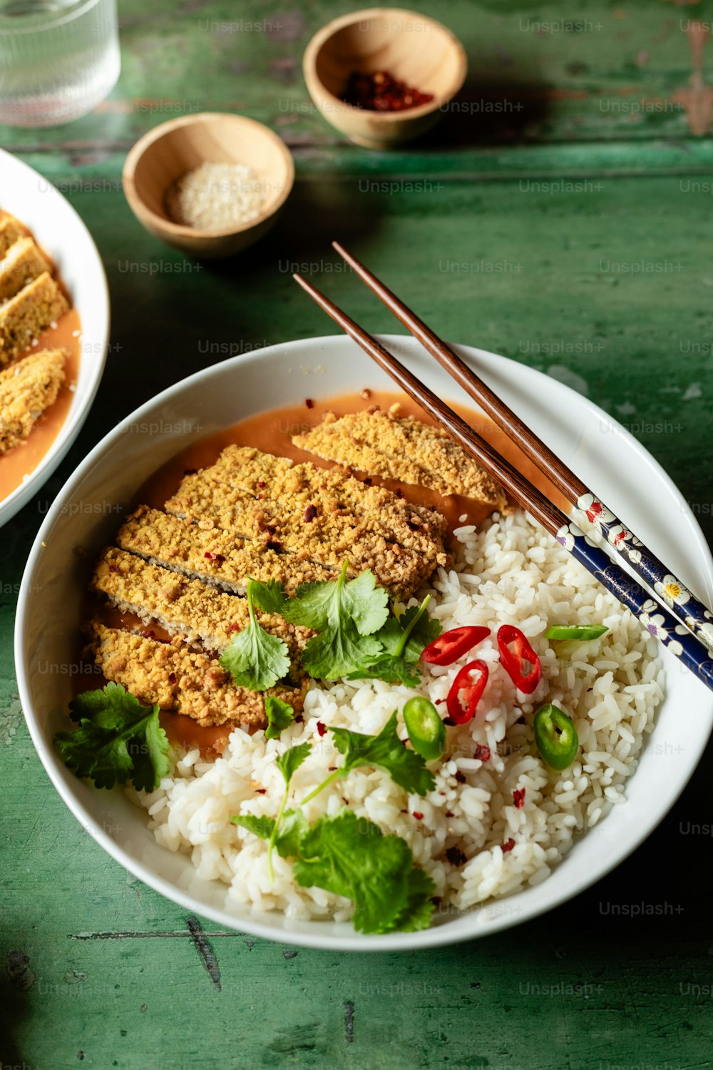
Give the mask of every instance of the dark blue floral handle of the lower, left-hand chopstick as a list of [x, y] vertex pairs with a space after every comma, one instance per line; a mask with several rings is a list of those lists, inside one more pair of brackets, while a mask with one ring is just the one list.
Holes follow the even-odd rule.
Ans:
[[683, 664], [713, 690], [713, 660], [707, 647], [675, 616], [662, 610], [636, 580], [629, 577], [605, 550], [589, 538], [576, 524], [564, 524], [555, 538], [569, 550], [600, 583], [610, 591], [641, 622], [652, 636]]

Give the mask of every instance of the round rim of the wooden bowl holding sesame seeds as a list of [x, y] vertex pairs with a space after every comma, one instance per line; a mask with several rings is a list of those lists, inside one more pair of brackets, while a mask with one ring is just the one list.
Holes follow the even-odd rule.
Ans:
[[[285, 173], [284, 185], [277, 201], [268, 211], [261, 212], [254, 219], [249, 219], [247, 223], [241, 223], [234, 227], [221, 227], [219, 230], [208, 230], [205, 227], [187, 227], [184, 224], [173, 223], [172, 219], [167, 219], [161, 215], [157, 215], [156, 212], [149, 208], [146, 202], [137, 192], [136, 169], [139, 160], [148, 149], [155, 144], [156, 141], [160, 141], [161, 138], [172, 131], [214, 119], [229, 119], [239, 125], [254, 127], [255, 129], [259, 129], [261, 134], [267, 135], [268, 139], [273, 141], [282, 157]], [[208, 160], [204, 160], [204, 163], [208, 163]], [[157, 230], [161, 230], [165, 234], [170, 234], [173, 238], [195, 238], [200, 239], [201, 241], [210, 240], [212, 238], [230, 238], [231, 234], [241, 234], [246, 230], [252, 230], [254, 227], [259, 227], [261, 224], [265, 223], [266, 219], [274, 216], [276, 212], [279, 212], [292, 193], [294, 182], [295, 162], [290, 149], [279, 134], [276, 134], [275, 131], [265, 123], [261, 123], [257, 119], [251, 119], [249, 116], [243, 116], [235, 111], [199, 111], [195, 116], [179, 116], [177, 119], [169, 119], [165, 123], [158, 123], [157, 126], [148, 131], [131, 146], [122, 168], [122, 186], [124, 189], [124, 196], [126, 197], [126, 200], [128, 201], [135, 215], [137, 215], [142, 221], [151, 221], [152, 226], [154, 226]]]

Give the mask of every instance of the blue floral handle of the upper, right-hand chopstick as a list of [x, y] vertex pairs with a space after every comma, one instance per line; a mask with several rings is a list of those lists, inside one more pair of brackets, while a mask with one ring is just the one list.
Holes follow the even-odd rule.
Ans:
[[658, 597], [713, 653], [713, 613], [710, 609], [692, 595], [599, 498], [591, 493], [583, 494], [577, 499], [576, 507], [602, 532], [619, 556], [630, 563], [634, 571], [653, 587]]

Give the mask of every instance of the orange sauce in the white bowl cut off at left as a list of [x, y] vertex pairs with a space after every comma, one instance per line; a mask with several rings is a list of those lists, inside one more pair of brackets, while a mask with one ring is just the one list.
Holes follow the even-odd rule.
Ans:
[[[0, 211], [0, 219], [6, 213]], [[50, 257], [46, 253], [44, 253], [44, 256], [50, 261], [51, 265]], [[58, 281], [61, 286], [61, 280], [58, 279]], [[79, 356], [81, 351], [80, 330], [79, 314], [76, 308], [71, 308], [58, 321], [56, 327], [48, 327], [37, 336], [36, 346], [29, 346], [24, 353], [19, 353], [13, 361], [4, 365], [4, 368], [10, 368], [17, 361], [21, 361], [22, 357], [30, 356], [32, 353], [36, 353], [43, 349], [59, 349], [63, 347], [67, 352], [65, 364], [66, 378], [60, 386], [57, 400], [49, 408], [45, 409], [27, 439], [18, 443], [6, 454], [0, 455], [0, 501], [12, 493], [13, 490], [16, 490], [25, 476], [34, 472], [59, 434], [67, 417], [74, 397], [74, 388], [77, 385], [77, 376], [79, 374]]]

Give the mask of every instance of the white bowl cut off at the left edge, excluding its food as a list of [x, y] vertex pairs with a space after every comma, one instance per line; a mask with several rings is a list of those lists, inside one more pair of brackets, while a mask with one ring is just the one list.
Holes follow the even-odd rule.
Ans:
[[92, 235], [69, 202], [33, 168], [0, 149], [0, 208], [29, 227], [50, 255], [81, 321], [77, 389], [59, 433], [34, 472], [0, 501], [0, 526], [49, 478], [79, 434], [104, 371], [109, 342], [109, 290]]

